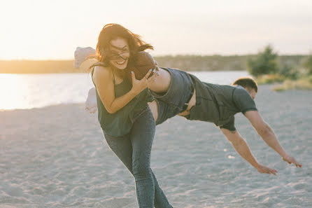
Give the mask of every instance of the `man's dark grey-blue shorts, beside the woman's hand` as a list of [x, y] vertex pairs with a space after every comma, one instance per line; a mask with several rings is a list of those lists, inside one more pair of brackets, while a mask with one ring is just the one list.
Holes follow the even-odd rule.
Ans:
[[171, 68], [162, 69], [169, 71], [171, 82], [164, 95], [151, 91], [158, 104], [156, 125], [182, 112], [185, 109], [185, 103], [190, 101], [194, 91], [192, 80], [185, 71]]

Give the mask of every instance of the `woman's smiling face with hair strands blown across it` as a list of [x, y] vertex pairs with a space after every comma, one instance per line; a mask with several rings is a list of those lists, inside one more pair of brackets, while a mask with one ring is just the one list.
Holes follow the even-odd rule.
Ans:
[[110, 64], [118, 69], [126, 69], [130, 57], [129, 44], [127, 40], [118, 37], [111, 40], [110, 43]]

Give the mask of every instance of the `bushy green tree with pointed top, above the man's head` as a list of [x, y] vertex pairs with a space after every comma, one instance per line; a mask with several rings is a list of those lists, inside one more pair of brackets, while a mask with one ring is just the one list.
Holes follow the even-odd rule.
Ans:
[[274, 53], [273, 48], [268, 45], [256, 57], [248, 58], [247, 69], [253, 76], [275, 74], [278, 72], [277, 57], [277, 53]]

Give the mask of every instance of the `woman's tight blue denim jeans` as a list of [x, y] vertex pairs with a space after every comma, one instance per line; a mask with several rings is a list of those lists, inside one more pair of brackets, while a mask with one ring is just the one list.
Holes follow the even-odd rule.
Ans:
[[155, 135], [155, 120], [150, 108], [134, 118], [132, 130], [121, 137], [105, 134], [108, 146], [129, 169], [135, 179], [136, 200], [143, 208], [172, 208], [150, 168], [150, 153]]

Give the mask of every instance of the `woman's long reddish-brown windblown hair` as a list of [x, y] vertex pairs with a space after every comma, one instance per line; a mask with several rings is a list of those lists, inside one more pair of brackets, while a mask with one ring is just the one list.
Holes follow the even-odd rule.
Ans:
[[99, 62], [92, 64], [92, 67], [97, 65], [101, 65], [104, 67], [109, 66], [109, 57], [111, 56], [111, 50], [109, 49], [110, 42], [113, 39], [122, 38], [126, 39], [129, 44], [130, 56], [129, 56], [129, 64], [133, 63], [133, 58], [139, 51], [143, 51], [146, 49], [153, 50], [153, 46], [142, 41], [141, 36], [138, 34], [134, 34], [129, 29], [122, 27], [121, 25], [110, 23], [107, 24], [101, 29], [99, 34], [99, 39], [97, 41], [97, 54], [96, 58]]

